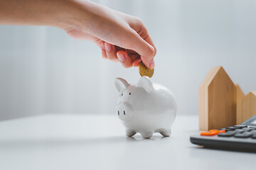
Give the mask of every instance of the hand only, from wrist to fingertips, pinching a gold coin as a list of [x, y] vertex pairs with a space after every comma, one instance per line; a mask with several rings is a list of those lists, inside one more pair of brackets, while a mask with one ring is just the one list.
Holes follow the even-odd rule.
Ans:
[[[90, 1], [78, 1], [81, 13], [63, 29], [73, 38], [92, 40], [102, 57], [121, 62], [123, 67], [137, 67], [142, 60], [154, 68], [156, 47], [142, 21]], [[86, 16], [86, 17], [85, 17]]]

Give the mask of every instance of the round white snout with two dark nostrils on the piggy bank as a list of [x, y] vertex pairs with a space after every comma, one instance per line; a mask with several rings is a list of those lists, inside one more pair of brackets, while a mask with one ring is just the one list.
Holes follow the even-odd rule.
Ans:
[[132, 106], [127, 102], [119, 103], [117, 105], [117, 116], [120, 120], [129, 120], [132, 117]]

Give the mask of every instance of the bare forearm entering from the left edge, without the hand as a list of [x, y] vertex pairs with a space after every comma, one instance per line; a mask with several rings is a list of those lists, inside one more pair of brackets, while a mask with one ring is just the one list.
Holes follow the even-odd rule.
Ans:
[[0, 0], [0, 25], [62, 28], [76, 22], [81, 12], [86, 19], [86, 11], [79, 11], [79, 4], [72, 0]]

